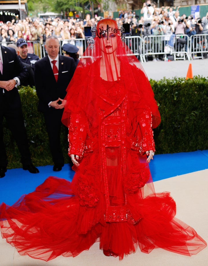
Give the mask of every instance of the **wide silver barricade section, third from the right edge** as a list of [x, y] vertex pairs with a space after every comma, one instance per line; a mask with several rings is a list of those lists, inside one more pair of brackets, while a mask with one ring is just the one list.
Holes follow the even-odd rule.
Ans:
[[163, 54], [164, 47], [168, 41], [165, 40], [167, 35], [148, 35], [143, 38], [143, 57], [146, 62], [146, 57], [153, 54]]

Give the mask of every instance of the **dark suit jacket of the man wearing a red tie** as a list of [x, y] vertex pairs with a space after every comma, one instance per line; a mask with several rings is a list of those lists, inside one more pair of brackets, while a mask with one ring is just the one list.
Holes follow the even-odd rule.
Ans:
[[59, 97], [64, 99], [66, 88], [75, 71], [75, 61], [71, 57], [59, 55], [58, 80], [55, 81], [48, 56], [35, 63], [35, 86], [39, 98], [38, 110], [49, 111], [48, 104]]

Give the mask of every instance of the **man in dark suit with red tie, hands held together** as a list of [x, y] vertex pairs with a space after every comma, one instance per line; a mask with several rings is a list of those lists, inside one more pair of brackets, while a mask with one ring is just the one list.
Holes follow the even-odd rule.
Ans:
[[38, 110], [43, 112], [45, 118], [54, 162], [53, 171], [60, 171], [64, 166], [64, 156], [60, 145], [63, 99], [76, 66], [73, 58], [59, 54], [60, 45], [56, 37], [47, 37], [45, 48], [48, 55], [35, 63]]

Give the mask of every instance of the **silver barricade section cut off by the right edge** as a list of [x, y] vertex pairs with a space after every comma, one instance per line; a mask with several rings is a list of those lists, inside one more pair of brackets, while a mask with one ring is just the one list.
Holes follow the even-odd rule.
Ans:
[[208, 34], [195, 34], [190, 37], [190, 54], [192, 59], [207, 58]]

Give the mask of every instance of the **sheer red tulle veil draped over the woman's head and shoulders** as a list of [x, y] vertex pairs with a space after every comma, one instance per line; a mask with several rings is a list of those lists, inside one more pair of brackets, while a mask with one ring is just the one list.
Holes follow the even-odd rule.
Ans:
[[[113, 38], [109, 37], [109, 44], [116, 50], [116, 56], [109, 58], [107, 48], [105, 48], [104, 38], [101, 34], [106, 25], [112, 26], [109, 35], [114, 34]], [[142, 108], [149, 108], [153, 117], [153, 128], [160, 123], [160, 114], [154, 94], [144, 69], [132, 51], [125, 43], [122, 43], [120, 31], [116, 31], [118, 26], [116, 21], [105, 19], [100, 21], [97, 26], [97, 34], [94, 38], [94, 48], [86, 49], [77, 66], [72, 80], [67, 88], [65, 97], [66, 105], [62, 122], [68, 127], [68, 118], [70, 113], [83, 113], [87, 116], [89, 123], [97, 123], [95, 98], [101, 94], [106, 94], [99, 86], [101, 77], [105, 80], [112, 81], [123, 78], [125, 90], [120, 92], [128, 94], [128, 114], [131, 116], [132, 123], [136, 122], [137, 111]], [[107, 33], [106, 33], [107, 34]], [[101, 36], [100, 36], [101, 35]], [[101, 50], [103, 46], [103, 52]], [[101, 68], [101, 57], [105, 68]], [[118, 63], [116, 64], [116, 60]], [[119, 66], [118, 66], [119, 65]], [[115, 67], [114, 67], [115, 66]], [[120, 70], [118, 69], [120, 67]], [[116, 79], [115, 79], [116, 75]], [[133, 122], [134, 121], [134, 122]]]

